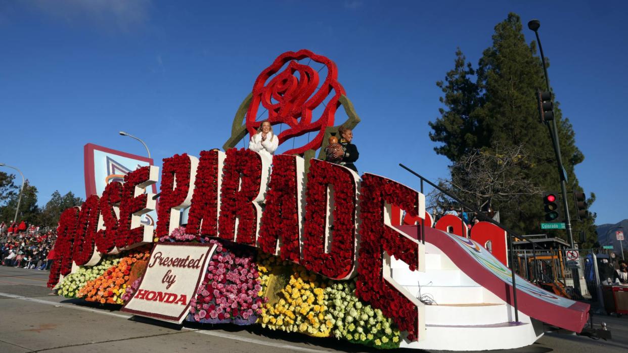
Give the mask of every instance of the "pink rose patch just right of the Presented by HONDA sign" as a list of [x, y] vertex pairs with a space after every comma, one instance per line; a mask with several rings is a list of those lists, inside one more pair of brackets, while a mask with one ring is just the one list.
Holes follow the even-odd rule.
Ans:
[[217, 248], [196, 297], [190, 301], [187, 320], [209, 324], [254, 324], [261, 315], [263, 298], [255, 253], [246, 246], [211, 240]]

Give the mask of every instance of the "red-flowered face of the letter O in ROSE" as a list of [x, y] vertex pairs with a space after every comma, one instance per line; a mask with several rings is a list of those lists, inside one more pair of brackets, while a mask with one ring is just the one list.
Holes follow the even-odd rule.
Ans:
[[89, 196], [78, 212], [77, 233], [72, 251], [74, 262], [79, 266], [85, 265], [94, 254], [96, 227], [100, 216], [99, 201], [97, 195]]

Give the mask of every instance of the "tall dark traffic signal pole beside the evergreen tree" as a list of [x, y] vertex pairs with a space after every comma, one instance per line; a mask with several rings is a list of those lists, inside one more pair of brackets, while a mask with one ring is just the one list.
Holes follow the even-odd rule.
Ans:
[[[528, 28], [534, 31], [536, 34], [536, 43], [539, 43], [539, 52], [541, 53], [541, 61], [543, 61], [543, 71], [545, 73], [545, 85], [547, 92], [551, 92], [549, 90], [549, 76], [548, 76], [548, 68], [545, 65], [545, 56], [543, 55], [543, 46], [541, 46], [541, 38], [539, 38], [538, 29], [541, 26], [541, 22], [537, 19], [533, 19], [528, 22]], [[551, 119], [552, 125], [549, 125], [549, 122], [546, 120], [545, 124], [549, 130], [549, 136], [551, 136], [552, 144], [554, 145], [554, 152], [556, 154], [556, 163], [558, 164], [558, 175], [560, 175], [560, 191], [563, 194], [563, 210], [565, 213], [565, 230], [567, 231], [567, 238], [569, 240], [569, 244], [573, 249], [573, 234], [571, 234], [571, 216], [569, 215], [569, 205], [567, 203], [567, 188], [565, 185], [566, 175], [565, 168], [563, 168], [563, 159], [560, 156], [560, 143], [558, 142], [558, 127], [556, 125], [556, 119]], [[553, 127], [553, 129], [552, 129]]]

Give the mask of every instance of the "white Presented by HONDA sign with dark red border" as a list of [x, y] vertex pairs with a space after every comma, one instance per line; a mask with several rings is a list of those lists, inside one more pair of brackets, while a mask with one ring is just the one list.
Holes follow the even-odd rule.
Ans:
[[200, 243], [155, 245], [138, 291], [121, 310], [181, 324], [215, 248]]

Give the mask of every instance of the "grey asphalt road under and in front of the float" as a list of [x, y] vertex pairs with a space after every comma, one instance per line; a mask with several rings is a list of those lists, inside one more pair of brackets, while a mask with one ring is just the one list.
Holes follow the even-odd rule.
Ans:
[[[47, 280], [47, 271], [0, 266], [0, 352], [381, 352], [259, 325], [165, 324], [117, 307], [50, 295]], [[533, 345], [505, 352], [628, 352], [628, 316], [593, 319], [597, 327], [601, 321], [607, 322], [614, 339], [549, 333]]]

